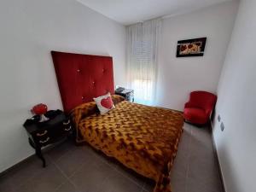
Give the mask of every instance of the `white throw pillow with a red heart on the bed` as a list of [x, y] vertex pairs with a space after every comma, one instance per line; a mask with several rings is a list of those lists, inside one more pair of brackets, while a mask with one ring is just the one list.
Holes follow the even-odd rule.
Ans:
[[98, 96], [96, 98], [93, 98], [93, 100], [96, 102], [96, 105], [97, 105], [98, 109], [100, 110], [101, 114], [105, 114], [109, 110], [114, 108], [110, 93], [108, 93], [104, 96]]

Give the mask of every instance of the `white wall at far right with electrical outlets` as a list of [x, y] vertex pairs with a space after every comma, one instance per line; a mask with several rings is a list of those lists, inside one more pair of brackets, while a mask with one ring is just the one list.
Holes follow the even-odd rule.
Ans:
[[256, 1], [241, 0], [218, 84], [213, 136], [227, 192], [256, 191]]

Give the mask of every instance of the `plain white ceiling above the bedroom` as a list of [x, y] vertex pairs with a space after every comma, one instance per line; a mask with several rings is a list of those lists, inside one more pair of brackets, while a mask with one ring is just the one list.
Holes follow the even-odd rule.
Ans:
[[180, 15], [231, 0], [77, 0], [121, 24], [130, 25], [160, 16]]

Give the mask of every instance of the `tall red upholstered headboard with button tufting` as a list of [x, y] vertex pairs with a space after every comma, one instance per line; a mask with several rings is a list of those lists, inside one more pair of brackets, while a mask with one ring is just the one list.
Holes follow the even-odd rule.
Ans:
[[113, 61], [110, 56], [51, 51], [64, 111], [108, 92], [113, 94]]

